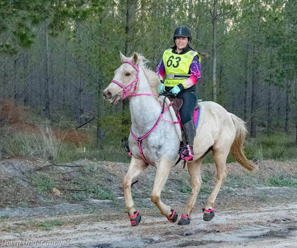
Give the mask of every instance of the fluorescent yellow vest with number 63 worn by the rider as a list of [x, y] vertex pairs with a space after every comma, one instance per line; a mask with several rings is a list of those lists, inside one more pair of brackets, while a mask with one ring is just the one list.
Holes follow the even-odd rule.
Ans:
[[195, 56], [198, 55], [199, 62], [201, 58], [195, 51], [189, 51], [185, 54], [174, 54], [169, 48], [163, 53], [163, 63], [166, 71], [165, 86], [173, 87], [183, 83], [191, 76], [189, 73], [190, 65]]

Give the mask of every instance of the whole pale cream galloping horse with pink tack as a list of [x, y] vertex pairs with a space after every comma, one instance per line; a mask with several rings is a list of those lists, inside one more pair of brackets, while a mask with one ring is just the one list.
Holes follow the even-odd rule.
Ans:
[[[133, 155], [123, 180], [123, 187], [131, 225], [137, 226], [141, 220], [132, 199], [131, 182], [149, 164], [156, 168], [151, 201], [169, 222], [175, 222], [177, 213], [160, 200], [160, 195], [170, 169], [179, 158], [180, 127], [175, 122], [176, 117], [172, 115], [171, 108], [167, 106], [164, 109], [159, 103], [157, 87], [160, 82], [157, 75], [146, 68], [145, 58], [136, 53], [130, 58], [122, 54], [120, 57], [123, 63], [115, 70], [114, 78], [103, 91], [103, 96], [113, 104], [127, 96], [130, 98], [132, 126], [129, 147]], [[190, 214], [202, 183], [200, 166], [210, 150], [214, 156], [217, 178], [203, 209], [205, 221], [211, 220], [214, 216], [214, 201], [227, 176], [226, 159], [230, 150], [236, 161], [247, 170], [257, 169], [243, 153], [247, 133], [245, 123], [214, 102], [201, 102], [199, 108], [200, 118], [194, 142], [195, 156], [194, 160], [187, 164], [192, 179], [192, 192], [184, 214], [178, 222], [180, 225], [190, 224]], [[169, 111], [166, 111], [168, 109]]]

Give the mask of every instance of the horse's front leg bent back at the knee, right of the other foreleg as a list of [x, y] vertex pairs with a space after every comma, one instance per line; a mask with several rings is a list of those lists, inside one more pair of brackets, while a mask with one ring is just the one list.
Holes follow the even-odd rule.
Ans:
[[169, 222], [173, 223], [177, 220], [177, 213], [175, 212], [175, 210], [171, 209], [170, 206], [165, 205], [160, 200], [161, 191], [168, 178], [171, 169], [171, 164], [172, 162], [164, 158], [161, 158], [160, 162], [157, 163], [156, 176], [151, 192], [151, 201], [158, 207], [161, 214], [165, 215]]

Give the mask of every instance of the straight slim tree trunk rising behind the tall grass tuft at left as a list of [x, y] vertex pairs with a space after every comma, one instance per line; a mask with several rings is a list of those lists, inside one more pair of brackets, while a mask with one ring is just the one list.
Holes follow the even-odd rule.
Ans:
[[51, 121], [50, 112], [50, 97], [49, 97], [49, 33], [48, 33], [48, 19], [45, 20], [45, 35], [46, 35], [46, 70], [45, 70], [45, 100], [46, 100], [46, 116]]

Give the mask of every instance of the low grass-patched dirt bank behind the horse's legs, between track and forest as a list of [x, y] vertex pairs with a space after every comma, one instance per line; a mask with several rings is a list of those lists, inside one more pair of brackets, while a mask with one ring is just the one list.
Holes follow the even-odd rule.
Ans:
[[[1, 206], [38, 206], [40, 204], [59, 204], [63, 202], [82, 202], [90, 199], [123, 199], [122, 178], [128, 164], [106, 161], [80, 160], [66, 164], [49, 164], [44, 161], [3, 160], [0, 161]], [[248, 172], [237, 163], [227, 164], [228, 176], [219, 192], [219, 198], [233, 194], [229, 199], [236, 205], [236, 199], [247, 194], [249, 188], [269, 188], [272, 186], [297, 186], [297, 163], [261, 161], [257, 172]], [[136, 198], [150, 202], [150, 192], [154, 182], [155, 168], [149, 166], [138, 178], [133, 180], [133, 194]], [[199, 193], [201, 202], [210, 194], [215, 183], [215, 168], [205, 164], [201, 168], [202, 186]], [[280, 185], [278, 185], [280, 184]], [[56, 195], [52, 189], [58, 189]], [[9, 193], [8, 193], [9, 192]], [[21, 203], [19, 192], [22, 192]], [[27, 192], [27, 193], [24, 193]], [[187, 169], [175, 166], [162, 191], [162, 198], [171, 201], [184, 201], [191, 193], [191, 179]], [[273, 192], [272, 192], [273, 193]], [[250, 195], [251, 200], [261, 200]], [[256, 199], [258, 197], [258, 199]], [[285, 199], [285, 195], [282, 197]], [[220, 200], [218, 200], [220, 204]]]

